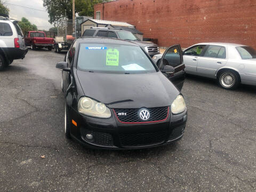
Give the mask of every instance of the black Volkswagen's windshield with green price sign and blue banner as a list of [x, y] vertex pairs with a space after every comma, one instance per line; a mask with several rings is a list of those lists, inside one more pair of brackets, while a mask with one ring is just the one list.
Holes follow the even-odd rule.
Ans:
[[139, 46], [81, 43], [77, 69], [98, 73], [141, 74], [156, 72]]

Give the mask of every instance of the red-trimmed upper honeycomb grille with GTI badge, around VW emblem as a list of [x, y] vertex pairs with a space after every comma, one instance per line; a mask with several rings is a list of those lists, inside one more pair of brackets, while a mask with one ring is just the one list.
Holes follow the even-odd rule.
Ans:
[[[140, 109], [114, 109], [118, 120], [122, 123], [147, 123], [147, 122], [156, 122], [164, 121], [169, 114], [169, 107], [155, 107], [148, 108], [149, 119], [143, 121], [138, 114]], [[119, 115], [120, 114], [120, 115]], [[126, 114], [126, 115], [122, 115]]]

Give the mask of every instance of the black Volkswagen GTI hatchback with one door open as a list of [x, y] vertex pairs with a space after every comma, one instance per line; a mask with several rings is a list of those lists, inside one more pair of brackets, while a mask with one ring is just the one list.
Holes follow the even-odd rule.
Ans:
[[[62, 69], [65, 133], [91, 148], [134, 149], [179, 140], [187, 121], [180, 45], [157, 67], [133, 42], [78, 38]], [[171, 65], [178, 65], [175, 69]], [[173, 84], [172, 82], [175, 84]]]

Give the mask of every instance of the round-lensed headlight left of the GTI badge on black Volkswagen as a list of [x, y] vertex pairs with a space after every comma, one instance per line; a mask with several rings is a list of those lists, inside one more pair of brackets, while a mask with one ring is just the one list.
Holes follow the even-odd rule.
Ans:
[[100, 118], [111, 117], [111, 112], [104, 103], [97, 102], [91, 98], [82, 97], [78, 101], [78, 112], [84, 115]]

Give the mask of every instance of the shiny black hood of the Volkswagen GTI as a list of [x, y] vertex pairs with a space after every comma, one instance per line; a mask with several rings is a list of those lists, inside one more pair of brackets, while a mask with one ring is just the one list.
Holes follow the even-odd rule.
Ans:
[[84, 95], [109, 108], [170, 106], [178, 89], [160, 71], [149, 74], [105, 74], [77, 70]]

